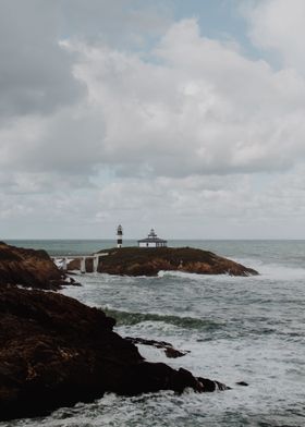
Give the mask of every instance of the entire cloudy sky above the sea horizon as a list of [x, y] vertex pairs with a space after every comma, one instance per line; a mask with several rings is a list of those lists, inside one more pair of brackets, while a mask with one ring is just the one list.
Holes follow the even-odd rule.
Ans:
[[305, 239], [304, 0], [0, 0], [0, 240]]

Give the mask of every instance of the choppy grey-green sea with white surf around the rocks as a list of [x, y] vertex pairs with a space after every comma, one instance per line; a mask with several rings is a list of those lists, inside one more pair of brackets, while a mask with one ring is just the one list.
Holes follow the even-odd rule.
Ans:
[[[113, 241], [8, 241], [50, 255], [85, 255]], [[135, 241], [124, 242], [136, 245]], [[305, 426], [305, 241], [170, 241], [229, 257], [256, 277], [161, 271], [158, 277], [77, 273], [65, 295], [102, 308], [122, 337], [167, 341], [183, 357], [138, 345], [151, 362], [183, 367], [232, 390], [106, 394], [52, 414], [0, 427]], [[145, 251], [145, 249], [143, 249]], [[245, 381], [247, 387], [237, 386]]]

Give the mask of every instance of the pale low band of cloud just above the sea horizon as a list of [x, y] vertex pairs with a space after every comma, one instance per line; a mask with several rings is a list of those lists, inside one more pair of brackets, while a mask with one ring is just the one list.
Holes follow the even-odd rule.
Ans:
[[[271, 181], [241, 174], [124, 178], [73, 192], [59, 181], [52, 203], [39, 193], [1, 195], [2, 235], [111, 239], [123, 222], [125, 239], [146, 235], [150, 227], [168, 239], [300, 239], [303, 183], [304, 168]], [[44, 228], [37, 227], [41, 222]]]

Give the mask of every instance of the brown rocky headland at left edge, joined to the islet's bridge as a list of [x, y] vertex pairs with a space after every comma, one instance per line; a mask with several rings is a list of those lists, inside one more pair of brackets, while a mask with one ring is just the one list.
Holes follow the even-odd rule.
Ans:
[[0, 284], [59, 289], [64, 283], [63, 279], [63, 273], [45, 251], [25, 249], [0, 242]]

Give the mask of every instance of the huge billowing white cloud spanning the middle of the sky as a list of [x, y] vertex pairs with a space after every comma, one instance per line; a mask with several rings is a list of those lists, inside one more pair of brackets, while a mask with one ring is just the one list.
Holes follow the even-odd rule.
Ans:
[[305, 81], [172, 25], [147, 61], [62, 42], [86, 97], [0, 129], [1, 163], [24, 171], [187, 176], [280, 171], [303, 161]]

